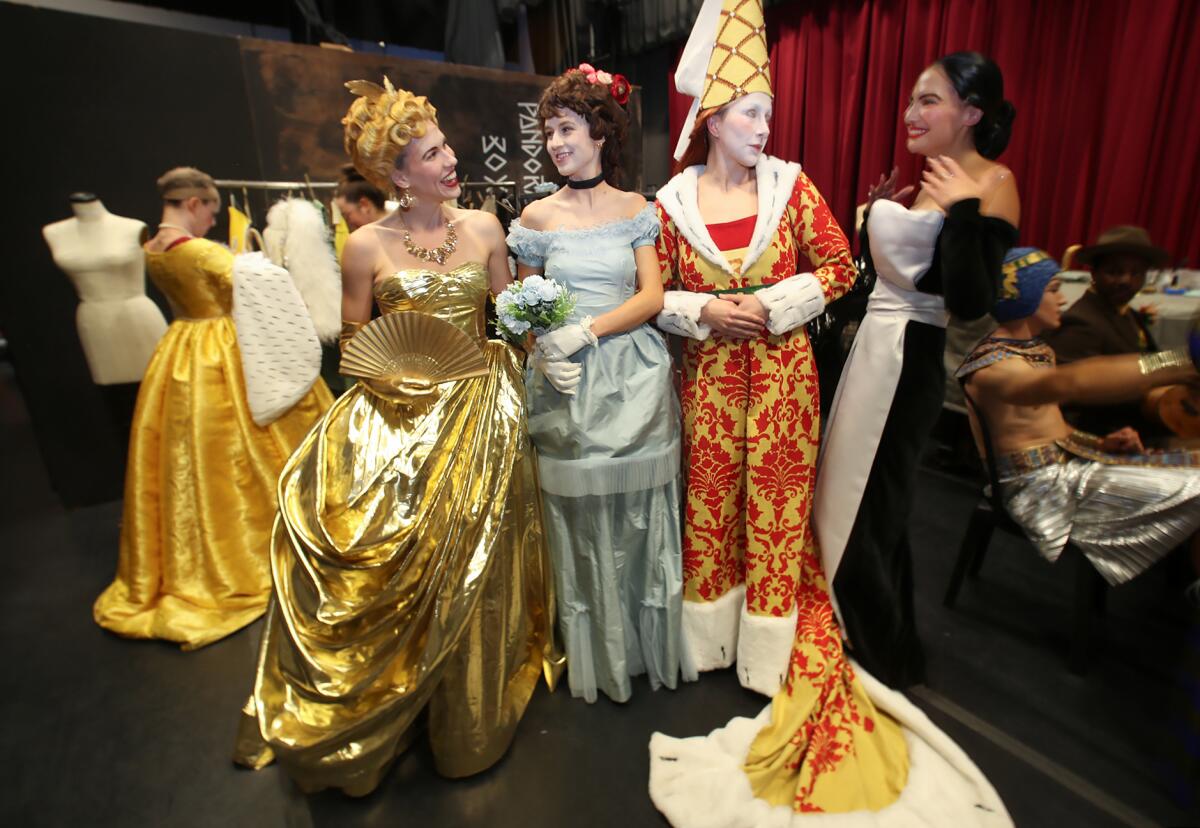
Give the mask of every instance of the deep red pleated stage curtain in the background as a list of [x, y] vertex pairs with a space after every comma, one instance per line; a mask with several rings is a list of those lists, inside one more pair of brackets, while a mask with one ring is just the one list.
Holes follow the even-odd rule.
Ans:
[[[1021, 191], [1021, 244], [1061, 256], [1141, 224], [1200, 266], [1200, 2], [812, 0], [769, 10], [767, 30], [767, 149], [804, 164], [844, 227], [893, 164], [919, 180], [908, 92], [938, 55], [974, 49], [1016, 107], [1001, 161]], [[671, 90], [674, 139], [690, 101]]]

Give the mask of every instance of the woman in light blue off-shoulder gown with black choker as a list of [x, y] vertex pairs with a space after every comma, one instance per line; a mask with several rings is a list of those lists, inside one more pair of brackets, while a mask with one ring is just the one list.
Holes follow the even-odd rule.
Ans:
[[659, 224], [611, 186], [628, 95], [589, 66], [545, 91], [539, 121], [568, 186], [512, 223], [518, 275], [577, 298], [569, 323], [538, 338], [526, 374], [546, 532], [574, 696], [631, 695], [630, 676], [674, 688], [680, 670], [679, 403], [662, 335]]

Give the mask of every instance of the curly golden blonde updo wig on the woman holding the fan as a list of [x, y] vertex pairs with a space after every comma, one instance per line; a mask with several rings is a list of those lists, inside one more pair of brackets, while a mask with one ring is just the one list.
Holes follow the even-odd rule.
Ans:
[[428, 124], [438, 122], [438, 110], [424, 95], [396, 89], [384, 77], [383, 86], [370, 80], [346, 84], [359, 97], [350, 104], [342, 125], [346, 151], [354, 168], [385, 193], [395, 190], [391, 170], [404, 148], [425, 134]]

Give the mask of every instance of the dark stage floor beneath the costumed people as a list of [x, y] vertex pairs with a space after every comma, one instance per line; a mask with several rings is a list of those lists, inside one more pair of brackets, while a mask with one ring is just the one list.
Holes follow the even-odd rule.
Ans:
[[[258, 625], [194, 653], [95, 626], [91, 601], [113, 574], [119, 504], [56, 505], [2, 364], [0, 457], [6, 826], [664, 826], [646, 790], [650, 732], [703, 733], [764, 703], [728, 671], [677, 692], [642, 682], [623, 707], [540, 689], [511, 752], [480, 776], [443, 780], [416, 749], [366, 799], [304, 797], [276, 768], [252, 773], [229, 761]], [[1172, 691], [1190, 664], [1195, 703], [1200, 631], [1188, 626], [1168, 568], [1111, 595], [1103, 649], [1080, 678], [1063, 662], [1073, 581], [1015, 539], [997, 536], [959, 610], [942, 608], [974, 494], [932, 472], [920, 486], [913, 548], [932, 695], [917, 703], [974, 758], [1019, 826], [1200, 823], [1194, 805], [1180, 804], [1194, 791], [1180, 781], [1175, 748], [1200, 728], [1195, 708]], [[1024, 746], [1014, 754], [977, 732], [986, 725], [942, 712], [954, 706]], [[1187, 716], [1190, 731], [1180, 724]], [[1062, 784], [1039, 755], [1082, 787]], [[1118, 805], [1105, 809], [1105, 797]]]

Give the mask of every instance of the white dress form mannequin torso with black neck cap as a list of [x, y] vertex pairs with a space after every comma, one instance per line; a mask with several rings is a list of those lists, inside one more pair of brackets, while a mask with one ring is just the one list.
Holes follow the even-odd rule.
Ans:
[[146, 226], [114, 216], [91, 193], [71, 196], [73, 218], [42, 228], [54, 263], [79, 294], [76, 325], [97, 385], [137, 383], [167, 320], [145, 295]]

